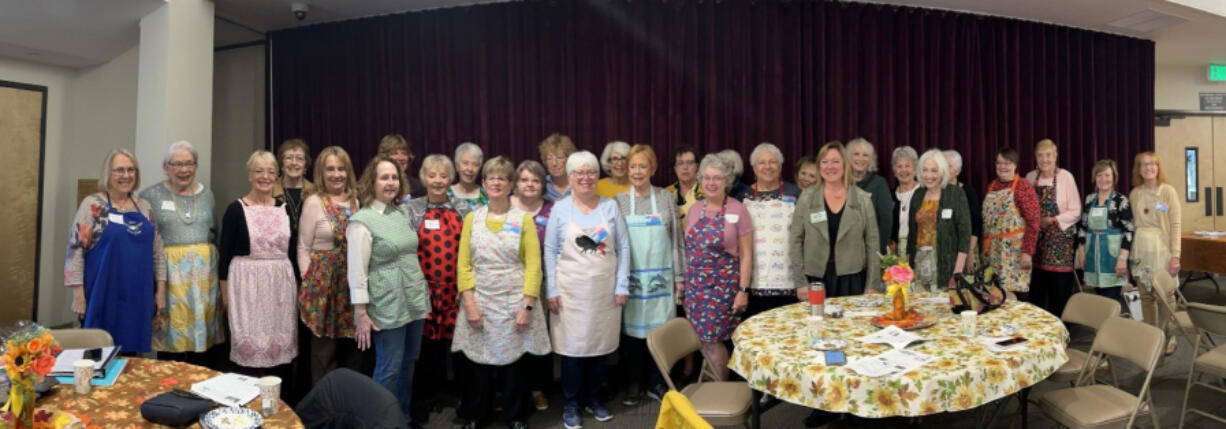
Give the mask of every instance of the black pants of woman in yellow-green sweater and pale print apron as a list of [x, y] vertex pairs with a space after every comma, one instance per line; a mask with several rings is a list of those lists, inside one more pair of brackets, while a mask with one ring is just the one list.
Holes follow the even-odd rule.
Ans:
[[[471, 363], [467, 369], [468, 384], [463, 390], [463, 403], [460, 404], [457, 414], [468, 420], [484, 422], [494, 403], [494, 391], [500, 389], [503, 411], [499, 417], [506, 423], [520, 419], [524, 416], [526, 396], [522, 363], [522, 358], [500, 366]], [[495, 381], [495, 373], [501, 378], [500, 384]]]

